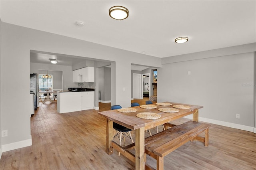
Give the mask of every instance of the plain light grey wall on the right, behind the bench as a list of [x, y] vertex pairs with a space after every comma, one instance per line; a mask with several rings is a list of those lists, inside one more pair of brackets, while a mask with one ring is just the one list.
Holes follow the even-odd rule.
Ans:
[[[202, 105], [202, 118], [253, 129], [250, 127], [255, 127], [255, 45], [164, 59], [166, 63], [158, 69], [158, 102]], [[182, 61], [185, 58], [189, 61]], [[240, 119], [236, 119], [236, 114], [240, 114]]]

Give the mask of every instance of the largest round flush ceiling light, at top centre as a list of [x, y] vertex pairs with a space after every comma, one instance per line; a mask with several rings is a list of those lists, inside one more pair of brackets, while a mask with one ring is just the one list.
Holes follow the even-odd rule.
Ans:
[[128, 17], [129, 11], [123, 6], [113, 6], [109, 9], [109, 16], [115, 20], [124, 20]]

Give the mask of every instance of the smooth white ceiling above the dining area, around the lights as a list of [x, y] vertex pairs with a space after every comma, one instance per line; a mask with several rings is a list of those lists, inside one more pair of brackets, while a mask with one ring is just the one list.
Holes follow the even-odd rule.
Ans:
[[[116, 5], [128, 8], [127, 19], [110, 18]], [[256, 0], [1, 0], [0, 7], [2, 22], [161, 58], [256, 42]], [[180, 36], [189, 41], [175, 43]]]

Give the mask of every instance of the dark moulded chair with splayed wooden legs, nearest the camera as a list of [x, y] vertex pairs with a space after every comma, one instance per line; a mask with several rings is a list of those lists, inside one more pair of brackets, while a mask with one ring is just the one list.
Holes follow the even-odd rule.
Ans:
[[[111, 106], [111, 110], [115, 110], [115, 109], [121, 109], [122, 107], [120, 105], [113, 105]], [[132, 129], [129, 129], [127, 127], [124, 127], [122, 125], [119, 125], [118, 123], [115, 123], [113, 122], [113, 128], [116, 130], [116, 136], [118, 136], [120, 134], [120, 137], [118, 136], [119, 138], [119, 145], [121, 146], [121, 141], [124, 139], [124, 142], [125, 142], [125, 136], [127, 136], [128, 138], [130, 138], [132, 140], [132, 135], [131, 135], [131, 132]], [[122, 138], [122, 134], [124, 135], [123, 138]], [[132, 143], [133, 143], [133, 140], [132, 140]], [[120, 156], [120, 152], [118, 152], [118, 156]]]

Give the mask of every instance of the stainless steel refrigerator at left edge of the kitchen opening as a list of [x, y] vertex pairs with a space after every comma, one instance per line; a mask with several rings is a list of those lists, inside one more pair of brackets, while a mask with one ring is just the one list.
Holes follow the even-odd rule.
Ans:
[[34, 109], [38, 107], [38, 75], [30, 74], [30, 93], [34, 93]]

